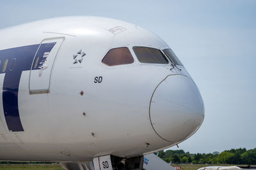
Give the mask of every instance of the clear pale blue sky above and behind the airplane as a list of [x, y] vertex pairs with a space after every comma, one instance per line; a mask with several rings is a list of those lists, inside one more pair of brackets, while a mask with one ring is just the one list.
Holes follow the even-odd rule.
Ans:
[[0, 0], [0, 7], [0, 29], [90, 15], [154, 32], [179, 56], [205, 104], [200, 129], [170, 149], [210, 153], [256, 148], [256, 1]]

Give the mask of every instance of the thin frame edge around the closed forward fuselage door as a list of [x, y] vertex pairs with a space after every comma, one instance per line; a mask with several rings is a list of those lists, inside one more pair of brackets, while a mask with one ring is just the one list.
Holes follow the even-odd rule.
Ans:
[[[56, 52], [56, 55], [54, 57], [54, 60], [52, 61], [52, 67], [51, 67], [51, 71], [50, 71], [50, 75], [49, 75], [49, 85], [47, 87], [47, 89], [38, 89], [38, 90], [31, 90], [30, 89], [30, 82], [31, 82], [31, 71], [33, 70], [33, 64], [35, 62], [35, 59], [36, 59], [36, 54], [38, 53], [38, 50], [40, 49], [40, 46], [42, 45], [42, 43], [44, 41], [47, 41], [47, 40], [51, 40], [51, 39], [62, 39], [61, 43], [60, 43], [60, 46], [58, 47], [58, 50]], [[29, 94], [47, 94], [47, 93], [50, 93], [50, 85], [51, 85], [51, 76], [52, 76], [52, 69], [54, 67], [54, 64], [55, 64], [55, 60], [56, 60], [56, 57], [60, 51], [60, 48], [63, 44], [63, 41], [65, 40], [65, 36], [61, 36], [61, 37], [54, 37], [54, 38], [45, 38], [43, 39], [41, 42], [40, 42], [40, 45], [38, 46], [37, 50], [36, 50], [36, 53], [35, 53], [35, 56], [34, 56], [34, 59], [33, 59], [33, 62], [31, 64], [31, 68], [30, 68], [30, 72], [29, 72], [29, 84], [28, 84], [28, 88], [29, 88]]]

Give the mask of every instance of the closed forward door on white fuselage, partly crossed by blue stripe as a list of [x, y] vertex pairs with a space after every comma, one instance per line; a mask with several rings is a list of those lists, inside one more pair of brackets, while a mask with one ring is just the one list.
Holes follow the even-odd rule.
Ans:
[[54, 60], [64, 37], [44, 39], [37, 49], [29, 76], [29, 94], [49, 93]]

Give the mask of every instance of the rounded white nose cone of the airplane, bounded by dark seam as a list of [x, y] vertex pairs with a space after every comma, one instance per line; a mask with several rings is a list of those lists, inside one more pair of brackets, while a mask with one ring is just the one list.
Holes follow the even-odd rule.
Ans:
[[150, 122], [157, 135], [179, 142], [194, 134], [204, 120], [204, 102], [195, 83], [181, 74], [167, 76], [150, 101]]

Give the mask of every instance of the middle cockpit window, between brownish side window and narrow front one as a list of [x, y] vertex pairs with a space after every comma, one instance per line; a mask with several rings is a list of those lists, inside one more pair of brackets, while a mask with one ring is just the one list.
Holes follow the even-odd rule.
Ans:
[[156, 48], [134, 46], [133, 51], [138, 60], [143, 63], [168, 64], [168, 60], [163, 53]]

